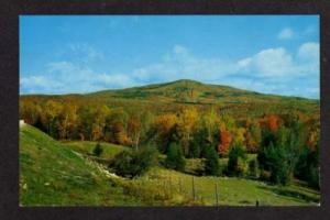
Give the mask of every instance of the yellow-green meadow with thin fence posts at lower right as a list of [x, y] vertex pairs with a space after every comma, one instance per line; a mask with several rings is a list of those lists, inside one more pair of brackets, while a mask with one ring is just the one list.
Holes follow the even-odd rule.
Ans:
[[[150, 182], [163, 183], [174, 191], [193, 198], [193, 176], [175, 170], [155, 168], [146, 177]], [[316, 206], [319, 193], [295, 182], [292, 186], [278, 187], [263, 182], [233, 177], [194, 177], [196, 199], [207, 206], [216, 205], [216, 184], [219, 204], [226, 206]]]

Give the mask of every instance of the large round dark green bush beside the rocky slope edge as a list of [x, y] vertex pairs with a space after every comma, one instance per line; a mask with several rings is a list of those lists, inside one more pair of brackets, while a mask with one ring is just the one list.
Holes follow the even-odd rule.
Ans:
[[141, 176], [156, 163], [156, 151], [151, 147], [140, 147], [134, 151], [122, 151], [110, 163], [116, 174], [129, 178]]

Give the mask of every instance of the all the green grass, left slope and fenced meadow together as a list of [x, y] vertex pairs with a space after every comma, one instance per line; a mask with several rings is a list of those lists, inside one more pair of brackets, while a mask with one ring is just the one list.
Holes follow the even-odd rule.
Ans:
[[[262, 182], [194, 176], [200, 160], [188, 160], [186, 174], [154, 167], [135, 179], [109, 176], [90, 156], [95, 142], [57, 142], [33, 127], [20, 130], [21, 206], [308, 206], [319, 193], [295, 182], [288, 187]], [[101, 143], [107, 161], [129, 147]], [[250, 155], [253, 157], [255, 155]], [[161, 158], [164, 156], [161, 156]], [[221, 164], [226, 160], [220, 160]], [[193, 190], [193, 176], [195, 199]]]

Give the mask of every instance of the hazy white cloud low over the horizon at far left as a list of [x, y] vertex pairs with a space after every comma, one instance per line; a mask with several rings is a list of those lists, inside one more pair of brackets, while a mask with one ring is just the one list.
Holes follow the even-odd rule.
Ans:
[[134, 85], [128, 75], [96, 73], [86, 66], [69, 62], [51, 63], [43, 76], [23, 77], [20, 84], [21, 91], [28, 94], [90, 92]]

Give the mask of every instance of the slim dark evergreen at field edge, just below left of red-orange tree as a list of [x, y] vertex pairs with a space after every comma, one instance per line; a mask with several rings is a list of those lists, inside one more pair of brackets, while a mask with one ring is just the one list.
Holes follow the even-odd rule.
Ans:
[[213, 176], [218, 176], [220, 174], [219, 155], [212, 146], [206, 148], [205, 173], [206, 175]]

